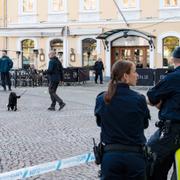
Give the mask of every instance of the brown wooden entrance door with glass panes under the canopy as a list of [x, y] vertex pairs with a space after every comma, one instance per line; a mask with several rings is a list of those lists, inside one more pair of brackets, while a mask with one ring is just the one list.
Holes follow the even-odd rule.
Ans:
[[149, 66], [149, 47], [112, 47], [111, 65], [113, 65], [117, 60], [130, 60], [136, 64], [137, 68], [146, 68]]

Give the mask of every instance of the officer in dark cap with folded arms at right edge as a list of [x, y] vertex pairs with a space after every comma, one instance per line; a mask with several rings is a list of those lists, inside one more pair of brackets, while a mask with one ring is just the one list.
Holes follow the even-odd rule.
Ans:
[[152, 180], [167, 179], [174, 153], [180, 147], [180, 47], [175, 48], [172, 61], [175, 70], [147, 92], [150, 104], [160, 109], [159, 129], [148, 141], [157, 156]]

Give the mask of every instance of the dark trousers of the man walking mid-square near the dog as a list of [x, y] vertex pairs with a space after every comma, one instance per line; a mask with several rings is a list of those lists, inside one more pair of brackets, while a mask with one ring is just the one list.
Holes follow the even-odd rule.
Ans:
[[56, 102], [59, 103], [59, 105], [61, 105], [63, 103], [63, 100], [56, 94], [56, 90], [58, 88], [59, 82], [50, 82], [49, 84], [49, 94], [51, 97], [51, 107], [55, 107], [56, 106]]

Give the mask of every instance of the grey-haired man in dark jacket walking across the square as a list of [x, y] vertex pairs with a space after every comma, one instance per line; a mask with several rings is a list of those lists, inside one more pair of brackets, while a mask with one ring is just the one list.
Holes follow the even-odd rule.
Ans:
[[47, 70], [49, 79], [49, 94], [51, 97], [51, 106], [48, 108], [50, 111], [55, 111], [56, 102], [59, 103], [59, 110], [61, 110], [66, 104], [63, 100], [56, 94], [59, 82], [63, 81], [63, 66], [59, 59], [56, 57], [55, 51], [50, 51], [49, 53], [49, 66]]

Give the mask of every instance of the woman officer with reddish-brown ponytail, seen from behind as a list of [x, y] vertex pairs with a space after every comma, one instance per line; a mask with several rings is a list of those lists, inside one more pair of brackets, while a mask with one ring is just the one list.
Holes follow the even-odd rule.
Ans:
[[137, 77], [133, 62], [117, 61], [108, 90], [96, 98], [95, 116], [101, 120], [104, 144], [101, 180], [146, 178], [144, 129], [150, 115], [145, 97], [129, 87], [136, 85]]

